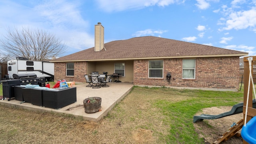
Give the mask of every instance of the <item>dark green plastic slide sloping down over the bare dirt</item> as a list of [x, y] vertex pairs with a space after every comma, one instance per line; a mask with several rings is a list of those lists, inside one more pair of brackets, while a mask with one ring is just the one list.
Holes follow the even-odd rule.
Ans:
[[[222, 114], [218, 115], [209, 115], [209, 114], [201, 114], [200, 116], [193, 116], [193, 122], [201, 121], [204, 119], [217, 119], [217, 118], [223, 118], [225, 116], [231, 116], [234, 114], [239, 114], [243, 112], [243, 106], [244, 103], [236, 104], [232, 107], [232, 109], [229, 112], [224, 112]], [[256, 102], [255, 99], [252, 100], [252, 107], [256, 108]]]

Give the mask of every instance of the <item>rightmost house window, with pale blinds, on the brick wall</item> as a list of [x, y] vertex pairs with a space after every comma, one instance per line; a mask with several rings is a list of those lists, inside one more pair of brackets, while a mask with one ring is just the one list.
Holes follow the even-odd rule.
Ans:
[[182, 60], [182, 78], [184, 79], [195, 79], [196, 71], [196, 60], [185, 59]]

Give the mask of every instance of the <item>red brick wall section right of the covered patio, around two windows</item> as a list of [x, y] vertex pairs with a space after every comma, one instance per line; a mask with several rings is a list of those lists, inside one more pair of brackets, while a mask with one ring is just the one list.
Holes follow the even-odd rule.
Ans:
[[[170, 84], [166, 74], [172, 75]], [[182, 59], [164, 59], [164, 78], [148, 78], [148, 60], [134, 60], [134, 85], [239, 88], [239, 57], [196, 58], [196, 79], [182, 79]]]

